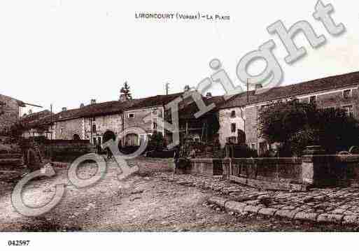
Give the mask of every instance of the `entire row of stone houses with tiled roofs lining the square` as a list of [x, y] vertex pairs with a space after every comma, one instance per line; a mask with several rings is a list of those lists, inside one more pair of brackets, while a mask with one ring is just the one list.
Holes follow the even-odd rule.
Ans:
[[[245, 141], [254, 150], [262, 152], [267, 150], [268, 144], [260, 138], [258, 115], [270, 102], [297, 99], [316, 103], [319, 108], [340, 107], [359, 119], [358, 87], [359, 72], [354, 72], [272, 89], [257, 86], [255, 90], [237, 94], [227, 101], [223, 96], [207, 94], [203, 97], [204, 103], [214, 103], [216, 107], [199, 118], [195, 117], [197, 104], [186, 98], [179, 104], [180, 135], [195, 141], [219, 141], [221, 146]], [[63, 108], [57, 114], [45, 110], [27, 115], [22, 121], [27, 125], [26, 136], [89, 140], [96, 145], [115, 138], [130, 127], [141, 127], [146, 134], [161, 131], [169, 143], [171, 133], [161, 121], [168, 121], [166, 104], [181, 96], [184, 96], [183, 92], [104, 103], [92, 100], [87, 106], [81, 104], [72, 110]], [[148, 116], [151, 120], [144, 120]], [[39, 125], [43, 127], [38, 129]], [[137, 145], [144, 136], [128, 135], [121, 143]]]

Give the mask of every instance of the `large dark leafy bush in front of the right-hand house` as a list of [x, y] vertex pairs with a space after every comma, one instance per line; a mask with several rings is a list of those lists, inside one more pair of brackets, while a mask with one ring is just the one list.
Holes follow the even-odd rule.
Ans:
[[321, 145], [332, 154], [359, 144], [358, 121], [341, 108], [277, 102], [260, 111], [259, 121], [262, 138], [283, 143], [281, 157], [300, 156], [308, 145]]

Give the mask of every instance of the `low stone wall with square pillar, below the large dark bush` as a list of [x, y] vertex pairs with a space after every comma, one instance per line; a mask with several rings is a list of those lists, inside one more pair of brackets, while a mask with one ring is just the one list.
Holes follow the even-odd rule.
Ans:
[[306, 191], [308, 187], [359, 186], [359, 155], [302, 158], [191, 159], [191, 174], [218, 175], [261, 189]]

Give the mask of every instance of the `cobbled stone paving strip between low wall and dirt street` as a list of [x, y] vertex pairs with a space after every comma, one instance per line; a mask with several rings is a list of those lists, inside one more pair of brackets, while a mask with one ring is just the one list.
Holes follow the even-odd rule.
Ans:
[[313, 188], [308, 192], [265, 191], [239, 185], [218, 176], [159, 173], [179, 185], [211, 189], [211, 202], [237, 213], [288, 217], [296, 220], [359, 224], [359, 188]]

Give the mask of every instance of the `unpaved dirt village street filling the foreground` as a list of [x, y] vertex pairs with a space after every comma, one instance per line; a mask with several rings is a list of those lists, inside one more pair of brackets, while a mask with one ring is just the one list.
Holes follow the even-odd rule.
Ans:
[[[220, 189], [206, 189], [203, 186], [206, 179], [202, 187], [193, 185], [193, 182], [188, 185], [190, 182], [179, 180], [185, 178], [169, 173], [170, 166], [159, 167], [155, 159], [140, 158], [131, 163], [139, 165], [139, 173], [121, 183], [117, 179], [118, 170], [114, 162], [108, 163], [103, 180], [84, 189], [71, 185], [66, 178], [65, 167], [55, 168], [57, 175], [52, 179], [31, 182], [24, 192], [24, 201], [30, 206], [49, 201], [55, 192], [55, 185], [66, 184], [64, 199], [53, 210], [39, 217], [24, 217], [16, 213], [10, 202], [11, 186], [1, 183], [0, 231], [356, 230], [349, 225], [225, 212], [223, 208], [207, 202], [209, 197], [220, 194]], [[85, 164], [80, 168], [79, 175], [88, 178], [94, 171], [94, 164]], [[192, 181], [195, 179], [193, 176], [190, 178]], [[201, 178], [196, 179], [198, 183]], [[254, 189], [242, 188], [247, 194], [248, 191], [255, 194]], [[260, 194], [259, 191], [257, 193]]]

